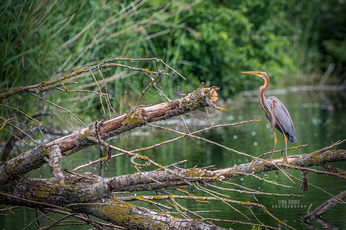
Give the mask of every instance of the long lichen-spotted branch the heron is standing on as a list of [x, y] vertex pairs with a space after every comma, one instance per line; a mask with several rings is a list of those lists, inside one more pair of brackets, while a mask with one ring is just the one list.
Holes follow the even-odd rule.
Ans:
[[[318, 162], [316, 162], [318, 159]], [[313, 152], [309, 154], [297, 155], [297, 156], [289, 156], [288, 157], [289, 165], [292, 166], [300, 166], [300, 167], [309, 167], [322, 165], [329, 162], [336, 161], [346, 161], [346, 150], [328, 150], [325, 152]], [[273, 159], [272, 162], [279, 163], [281, 159]], [[284, 168], [284, 164], [282, 165]], [[107, 182], [109, 189], [113, 191], [145, 191], [148, 188], [167, 188], [171, 187], [181, 187], [186, 185], [181, 179], [181, 176], [189, 178], [189, 180], [210, 182], [217, 178], [219, 179], [232, 179], [236, 177], [241, 177], [246, 174], [251, 173], [260, 173], [262, 172], [263, 161], [250, 162], [246, 164], [240, 164], [237, 166], [233, 166], [230, 168], [219, 169], [219, 170], [206, 170], [206, 169], [177, 169], [171, 170], [171, 172], [166, 171], [151, 171], [151, 172], [143, 172], [123, 175], [119, 177], [109, 178]], [[273, 164], [265, 164], [265, 171], [277, 170], [277, 168]], [[235, 173], [232, 173], [235, 172]], [[243, 174], [244, 173], [244, 174]], [[179, 175], [179, 176], [176, 176]], [[344, 178], [345, 175], [340, 172], [334, 172], [334, 176]], [[155, 178], [158, 182], [167, 182], [164, 184], [154, 183], [149, 178]], [[209, 180], [208, 180], [209, 178]], [[168, 183], [169, 182], [169, 183]], [[175, 182], [175, 183], [172, 183]], [[150, 186], [142, 186], [144, 184], [149, 184]]]

